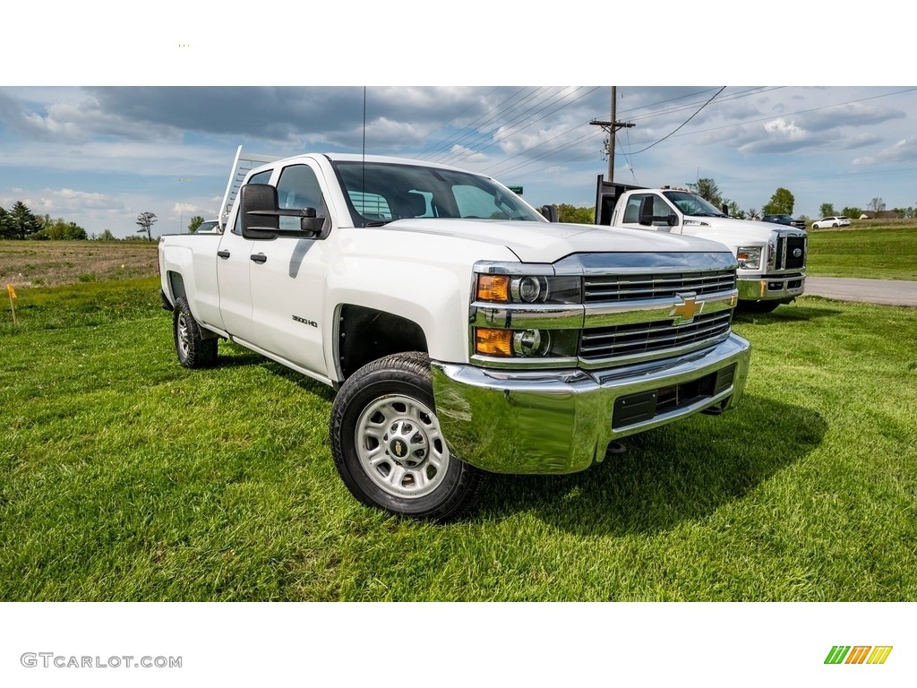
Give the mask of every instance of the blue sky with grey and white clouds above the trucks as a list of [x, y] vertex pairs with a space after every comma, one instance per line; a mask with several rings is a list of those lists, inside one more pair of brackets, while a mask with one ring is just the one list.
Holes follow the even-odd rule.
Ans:
[[[524, 187], [533, 205], [592, 205], [607, 173], [609, 86], [366, 88], [366, 150], [439, 161]], [[917, 205], [917, 88], [623, 86], [615, 180], [710, 177], [745, 210], [779, 187], [822, 203]], [[362, 150], [364, 89], [0, 88], [0, 205], [18, 200], [90, 232], [158, 233], [215, 216], [239, 145], [272, 155]]]

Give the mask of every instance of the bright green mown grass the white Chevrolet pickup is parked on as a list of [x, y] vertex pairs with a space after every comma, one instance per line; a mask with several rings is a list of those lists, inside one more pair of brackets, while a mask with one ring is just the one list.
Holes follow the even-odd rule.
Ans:
[[182, 369], [155, 278], [18, 295], [0, 600], [917, 599], [917, 309], [736, 316], [734, 412], [432, 526], [348, 494], [330, 389], [226, 343]]

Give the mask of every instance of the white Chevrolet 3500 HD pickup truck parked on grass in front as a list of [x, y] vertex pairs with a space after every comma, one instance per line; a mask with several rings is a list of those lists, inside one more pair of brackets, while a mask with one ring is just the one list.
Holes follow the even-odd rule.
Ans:
[[581, 471], [745, 387], [722, 244], [550, 223], [395, 158], [300, 155], [229, 187], [222, 233], [160, 239], [178, 359], [223, 338], [334, 386], [330, 453], [364, 504], [447, 520], [488, 472]]

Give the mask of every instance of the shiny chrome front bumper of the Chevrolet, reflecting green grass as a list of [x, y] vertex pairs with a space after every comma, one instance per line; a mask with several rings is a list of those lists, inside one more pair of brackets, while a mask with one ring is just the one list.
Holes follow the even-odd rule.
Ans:
[[570, 473], [602, 461], [608, 443], [734, 405], [748, 342], [731, 334], [668, 361], [604, 371], [497, 371], [433, 361], [436, 416], [449, 449], [499, 473]]

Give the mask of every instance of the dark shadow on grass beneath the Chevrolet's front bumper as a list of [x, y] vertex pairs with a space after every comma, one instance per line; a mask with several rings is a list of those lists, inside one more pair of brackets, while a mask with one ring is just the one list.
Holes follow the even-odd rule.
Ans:
[[746, 394], [724, 416], [692, 416], [623, 440], [624, 454], [560, 476], [492, 476], [472, 519], [534, 512], [580, 535], [653, 534], [710, 516], [818, 447], [811, 409]]

